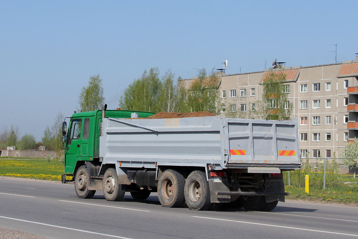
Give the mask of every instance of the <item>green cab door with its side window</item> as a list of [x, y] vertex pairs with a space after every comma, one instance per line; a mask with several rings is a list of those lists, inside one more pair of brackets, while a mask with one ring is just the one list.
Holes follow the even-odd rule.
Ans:
[[82, 119], [72, 119], [66, 149], [65, 172], [73, 173], [76, 158], [81, 154]]

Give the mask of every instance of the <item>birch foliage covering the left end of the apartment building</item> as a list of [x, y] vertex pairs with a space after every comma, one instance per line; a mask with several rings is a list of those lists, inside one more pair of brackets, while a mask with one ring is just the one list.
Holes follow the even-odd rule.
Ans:
[[222, 104], [218, 88], [219, 81], [220, 78], [217, 77], [214, 68], [209, 75], [203, 68], [199, 71], [198, 78], [192, 81], [188, 89], [184, 82], [178, 82], [178, 111], [182, 113], [210, 111], [214, 114], [220, 114]]

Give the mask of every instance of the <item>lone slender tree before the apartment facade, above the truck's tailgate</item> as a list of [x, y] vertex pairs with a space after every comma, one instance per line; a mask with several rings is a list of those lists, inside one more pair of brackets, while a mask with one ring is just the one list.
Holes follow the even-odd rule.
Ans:
[[265, 119], [286, 120], [290, 118], [291, 110], [285, 109], [288, 95], [285, 92], [287, 92], [287, 87], [289, 87], [289, 85], [285, 85], [285, 82], [286, 74], [280, 71], [270, 72], [263, 79], [262, 98], [265, 107], [261, 113], [266, 115]]

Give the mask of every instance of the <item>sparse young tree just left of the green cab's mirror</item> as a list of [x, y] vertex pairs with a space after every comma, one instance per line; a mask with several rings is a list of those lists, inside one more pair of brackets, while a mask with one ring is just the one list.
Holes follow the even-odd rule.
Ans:
[[45, 147], [54, 150], [58, 159], [63, 155], [63, 143], [62, 143], [62, 122], [64, 114], [59, 112], [56, 115], [55, 121], [51, 127], [46, 126], [44, 136], [41, 138]]

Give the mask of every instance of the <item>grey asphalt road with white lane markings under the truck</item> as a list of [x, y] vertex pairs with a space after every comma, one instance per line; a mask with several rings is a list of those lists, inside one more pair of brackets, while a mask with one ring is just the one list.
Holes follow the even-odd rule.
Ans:
[[[127, 195], [128, 194], [128, 195]], [[165, 208], [156, 193], [78, 199], [72, 184], [0, 179], [0, 227], [47, 238], [358, 238], [358, 207], [285, 202], [272, 212]]]

